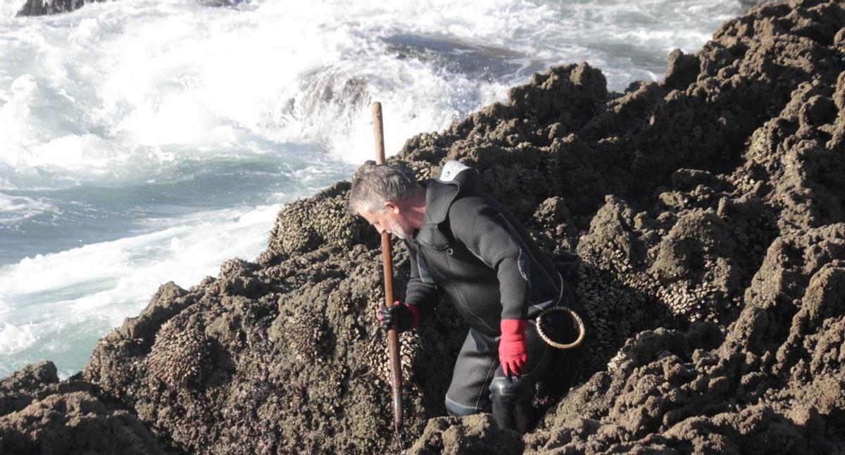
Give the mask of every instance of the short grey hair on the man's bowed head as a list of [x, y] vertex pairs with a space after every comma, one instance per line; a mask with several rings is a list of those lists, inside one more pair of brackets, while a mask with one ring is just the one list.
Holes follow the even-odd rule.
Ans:
[[402, 202], [422, 189], [413, 174], [398, 166], [368, 161], [352, 176], [349, 211], [384, 213], [385, 202]]

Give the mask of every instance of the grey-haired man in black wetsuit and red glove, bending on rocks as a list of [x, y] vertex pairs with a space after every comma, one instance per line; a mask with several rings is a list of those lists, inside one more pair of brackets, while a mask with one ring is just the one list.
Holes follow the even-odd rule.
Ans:
[[470, 326], [446, 409], [469, 415], [493, 403], [493, 418], [515, 428], [515, 404], [532, 392], [551, 353], [535, 319], [557, 304], [564, 282], [504, 206], [476, 188], [477, 172], [447, 162], [437, 178], [368, 162], [352, 178], [350, 209], [379, 233], [406, 242], [411, 280], [405, 302], [379, 309], [385, 328], [412, 330], [433, 312], [439, 291]]

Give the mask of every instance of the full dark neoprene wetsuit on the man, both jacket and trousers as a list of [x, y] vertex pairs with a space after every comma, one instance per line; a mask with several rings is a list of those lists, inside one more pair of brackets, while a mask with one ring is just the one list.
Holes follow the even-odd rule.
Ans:
[[[422, 320], [442, 289], [470, 326], [446, 393], [446, 408], [459, 415], [485, 408], [488, 388], [524, 394], [536, 383], [549, 356], [532, 320], [559, 302], [565, 286], [521, 223], [476, 189], [476, 180], [474, 169], [448, 162], [438, 178], [423, 182], [423, 226], [406, 239], [412, 267], [406, 304], [416, 305]], [[528, 359], [515, 381], [505, 381], [499, 365], [502, 319], [529, 321]]]

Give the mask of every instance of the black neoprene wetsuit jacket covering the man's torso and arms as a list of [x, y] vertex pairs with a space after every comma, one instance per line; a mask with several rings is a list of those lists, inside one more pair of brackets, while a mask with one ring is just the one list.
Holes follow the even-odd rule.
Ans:
[[[453, 164], [454, 163], [454, 164]], [[406, 303], [421, 318], [442, 288], [469, 326], [499, 335], [502, 319], [533, 319], [559, 301], [562, 279], [519, 221], [475, 188], [477, 172], [459, 162], [423, 182], [423, 226], [406, 240], [411, 281]]]

